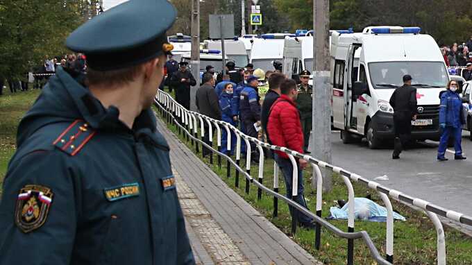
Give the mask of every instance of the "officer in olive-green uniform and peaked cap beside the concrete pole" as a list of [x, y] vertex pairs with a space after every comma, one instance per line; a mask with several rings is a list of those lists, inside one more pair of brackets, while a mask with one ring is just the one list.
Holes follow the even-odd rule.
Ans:
[[310, 71], [303, 70], [300, 73], [301, 83], [298, 85], [298, 97], [296, 98], [296, 107], [300, 111], [301, 129], [303, 130], [303, 152], [308, 151], [310, 144], [310, 132], [312, 130], [312, 105], [313, 105], [313, 87], [308, 85], [310, 80]]

